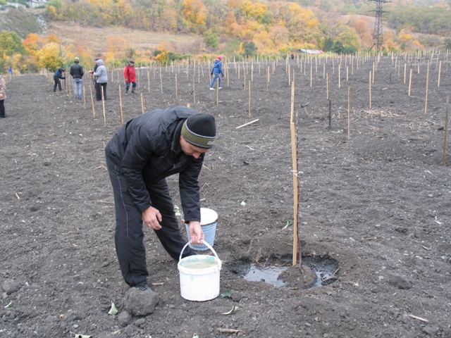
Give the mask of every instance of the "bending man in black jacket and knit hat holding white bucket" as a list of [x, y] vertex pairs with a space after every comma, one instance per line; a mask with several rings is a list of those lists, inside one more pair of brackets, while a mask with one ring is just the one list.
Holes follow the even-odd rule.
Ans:
[[[179, 174], [180, 201], [191, 242], [202, 244], [198, 177], [215, 137], [213, 115], [175, 106], [133, 118], [106, 145], [116, 209], [116, 253], [130, 287], [152, 291], [147, 284], [143, 223], [154, 230], [175, 261], [186, 244], [166, 183], [169, 175]], [[189, 246], [183, 251], [183, 257], [193, 254]]]

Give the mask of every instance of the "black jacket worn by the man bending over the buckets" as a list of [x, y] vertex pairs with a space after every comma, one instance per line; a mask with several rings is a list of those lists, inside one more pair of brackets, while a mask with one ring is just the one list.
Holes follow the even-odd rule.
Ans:
[[183, 122], [196, 114], [185, 106], [148, 111], [133, 118], [106, 145], [106, 156], [125, 176], [128, 192], [142, 212], [152, 205], [146, 184], [179, 174], [180, 200], [185, 221], [200, 221], [198, 177], [204, 162], [180, 149]]

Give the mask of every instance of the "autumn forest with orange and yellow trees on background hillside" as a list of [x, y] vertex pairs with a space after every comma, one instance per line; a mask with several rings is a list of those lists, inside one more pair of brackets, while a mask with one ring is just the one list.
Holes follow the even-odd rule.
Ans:
[[[50, 0], [40, 14], [47, 22], [101, 27], [108, 41], [101, 57], [115, 66], [131, 57], [140, 64], [216, 54], [269, 57], [299, 49], [337, 54], [373, 51], [376, 1]], [[450, 19], [450, 1], [383, 3], [382, 51], [450, 49]], [[109, 37], [108, 28], [118, 26], [198, 39], [184, 43], [163, 39], [158, 46], [137, 49], [128, 39]], [[0, 69], [52, 70], [69, 64], [75, 54], [86, 59], [85, 64], [92, 62], [94, 51], [82, 37], [63, 45], [57, 33], [20, 33], [13, 36], [18, 33], [11, 28], [1, 32]]]

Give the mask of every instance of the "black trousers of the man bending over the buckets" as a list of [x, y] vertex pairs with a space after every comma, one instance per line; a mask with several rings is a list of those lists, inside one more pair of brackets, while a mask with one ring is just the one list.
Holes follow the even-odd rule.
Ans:
[[[114, 206], [116, 208], [116, 254], [124, 280], [130, 286], [146, 282], [147, 263], [146, 249], [144, 247], [145, 225], [142, 222], [141, 212], [133, 203], [128, 194], [127, 183], [120, 165], [117, 165], [106, 156], [106, 165], [113, 186]], [[158, 209], [163, 220], [161, 229], [154, 230], [164, 249], [178, 261], [180, 251], [186, 241], [180, 233], [178, 220], [175, 218], [174, 206], [166, 180], [147, 184], [147, 191], [152, 200], [152, 206]], [[189, 246], [183, 251], [183, 257], [192, 256], [194, 252]]]

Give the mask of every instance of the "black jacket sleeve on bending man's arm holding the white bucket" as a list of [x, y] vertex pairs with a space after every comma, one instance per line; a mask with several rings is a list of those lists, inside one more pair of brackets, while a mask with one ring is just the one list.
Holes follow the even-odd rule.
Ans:
[[182, 202], [185, 222], [197, 220], [200, 222], [200, 189], [199, 173], [204, 163], [204, 154], [192, 161], [178, 176], [178, 187], [180, 189], [180, 201]]

